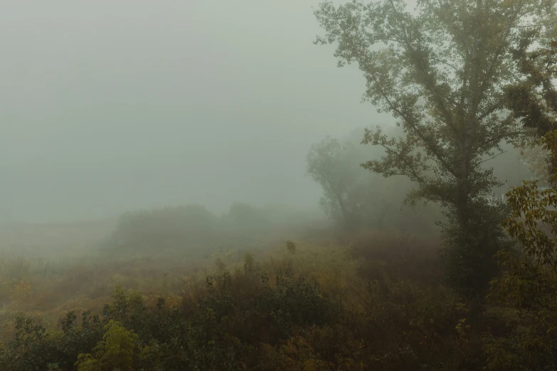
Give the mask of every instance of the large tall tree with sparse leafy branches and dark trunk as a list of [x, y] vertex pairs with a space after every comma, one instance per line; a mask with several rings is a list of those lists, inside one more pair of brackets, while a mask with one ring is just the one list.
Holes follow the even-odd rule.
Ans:
[[314, 14], [326, 31], [316, 43], [336, 43], [339, 66], [357, 63], [364, 100], [391, 112], [405, 132], [366, 131], [364, 143], [383, 146], [386, 156], [364, 166], [415, 181], [413, 202], [449, 208], [448, 278], [481, 289], [499, 240], [499, 215], [482, 197], [499, 181], [485, 158], [529, 133], [506, 109], [506, 87], [528, 78], [513, 52], [527, 38], [543, 44], [554, 34], [556, 0], [418, 0], [413, 11], [403, 0], [328, 1]]

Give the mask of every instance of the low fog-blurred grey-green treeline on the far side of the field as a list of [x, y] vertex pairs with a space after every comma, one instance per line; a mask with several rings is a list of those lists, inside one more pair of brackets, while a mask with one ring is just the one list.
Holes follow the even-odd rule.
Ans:
[[319, 213], [268, 205], [262, 208], [233, 203], [216, 215], [201, 205], [183, 205], [125, 213], [100, 244], [103, 255], [134, 254], [161, 257], [173, 254], [211, 254], [258, 247], [283, 230], [300, 235], [327, 225]]

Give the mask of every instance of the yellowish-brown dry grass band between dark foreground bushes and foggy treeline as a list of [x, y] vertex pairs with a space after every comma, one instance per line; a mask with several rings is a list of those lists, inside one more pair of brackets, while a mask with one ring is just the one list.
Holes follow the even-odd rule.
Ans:
[[[305, 231], [308, 233], [308, 231]], [[302, 235], [302, 234], [299, 234]], [[430, 243], [388, 232], [362, 231], [352, 242], [331, 240], [323, 233], [295, 241], [296, 252], [288, 252], [286, 239], [274, 236], [251, 251], [260, 269], [273, 281], [278, 272], [290, 270], [315, 279], [324, 291], [352, 308], [363, 308], [361, 296], [366, 284], [389, 276], [431, 282], [436, 256]], [[309, 241], [309, 242], [307, 242]], [[147, 298], [164, 294], [178, 297], [194, 292], [198, 282], [217, 269], [243, 271], [247, 250], [237, 249], [208, 254], [180, 254], [155, 259], [133, 257], [111, 260], [95, 254], [68, 257], [51, 254], [47, 258], [0, 254], [0, 340], [11, 336], [11, 321], [18, 311], [30, 313], [38, 323], [58, 326], [70, 310], [101, 311], [110, 301], [112, 289], [120, 285], [139, 291]], [[192, 257], [196, 257], [192, 259]], [[382, 277], [379, 277], [382, 276]], [[349, 299], [346, 299], [349, 298]], [[177, 300], [177, 299], [176, 299]]]

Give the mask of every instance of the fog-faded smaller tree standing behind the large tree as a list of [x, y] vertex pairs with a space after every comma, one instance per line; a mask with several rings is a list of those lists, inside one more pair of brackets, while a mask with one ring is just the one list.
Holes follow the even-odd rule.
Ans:
[[309, 151], [307, 173], [322, 186], [321, 208], [345, 228], [386, 228], [420, 234], [435, 230], [425, 220], [443, 219], [440, 208], [401, 208], [412, 185], [409, 179], [384, 178], [360, 166], [368, 158], [383, 154], [379, 147], [361, 145], [363, 132], [354, 131], [342, 141], [327, 137]]

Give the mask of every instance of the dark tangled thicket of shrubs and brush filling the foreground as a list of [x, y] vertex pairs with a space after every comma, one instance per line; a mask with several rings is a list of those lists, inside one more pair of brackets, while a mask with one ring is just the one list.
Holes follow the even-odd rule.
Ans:
[[117, 287], [102, 313], [70, 311], [48, 330], [21, 313], [0, 369], [472, 370], [480, 349], [456, 328], [467, 309], [420, 247], [374, 235], [330, 249], [320, 270], [290, 242], [280, 261], [218, 264], [180, 298]]

